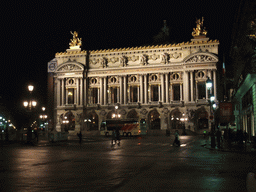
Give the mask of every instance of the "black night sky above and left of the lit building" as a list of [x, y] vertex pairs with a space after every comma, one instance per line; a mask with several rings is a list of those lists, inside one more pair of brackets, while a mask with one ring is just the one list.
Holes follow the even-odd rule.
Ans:
[[[70, 31], [78, 31], [82, 50], [149, 45], [167, 21], [170, 39], [187, 42], [204, 17], [210, 39], [227, 55], [238, 1], [26, 1], [2, 4], [1, 92], [12, 115], [22, 115], [27, 85], [35, 86], [39, 105], [47, 103], [47, 62], [69, 48]], [[144, 3], [142, 3], [144, 2]], [[226, 64], [231, 70], [231, 65]]]

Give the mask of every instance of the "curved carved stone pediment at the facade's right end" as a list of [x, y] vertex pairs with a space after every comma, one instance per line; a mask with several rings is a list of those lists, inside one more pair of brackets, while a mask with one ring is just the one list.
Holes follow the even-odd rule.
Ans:
[[187, 57], [185, 63], [207, 63], [207, 62], [218, 62], [218, 58], [215, 55], [210, 54], [196, 54]]

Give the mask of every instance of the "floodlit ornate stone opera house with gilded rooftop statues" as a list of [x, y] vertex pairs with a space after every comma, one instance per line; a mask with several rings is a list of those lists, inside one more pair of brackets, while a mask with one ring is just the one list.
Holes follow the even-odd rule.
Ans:
[[148, 134], [209, 131], [219, 41], [206, 37], [203, 21], [196, 23], [190, 42], [147, 47], [86, 51], [72, 33], [69, 49], [48, 63], [54, 129], [96, 131], [118, 113], [121, 119], [145, 121]]

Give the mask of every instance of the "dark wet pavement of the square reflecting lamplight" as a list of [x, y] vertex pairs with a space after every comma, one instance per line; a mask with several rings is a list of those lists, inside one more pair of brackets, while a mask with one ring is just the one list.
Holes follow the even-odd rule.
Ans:
[[200, 136], [84, 138], [1, 146], [2, 191], [246, 191], [255, 153], [202, 147]]

